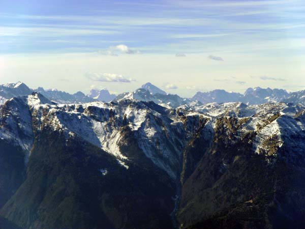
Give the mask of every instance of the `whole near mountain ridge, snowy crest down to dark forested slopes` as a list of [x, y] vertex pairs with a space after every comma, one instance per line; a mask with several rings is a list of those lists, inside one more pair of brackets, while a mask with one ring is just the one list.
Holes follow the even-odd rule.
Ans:
[[304, 114], [13, 98], [0, 106], [0, 214], [33, 229], [301, 228]]

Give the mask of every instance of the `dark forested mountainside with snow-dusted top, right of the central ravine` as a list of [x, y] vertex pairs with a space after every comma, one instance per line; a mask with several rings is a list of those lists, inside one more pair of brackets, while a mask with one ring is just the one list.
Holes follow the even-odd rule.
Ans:
[[181, 228], [302, 228], [304, 120], [262, 117], [218, 119], [210, 147], [182, 185]]

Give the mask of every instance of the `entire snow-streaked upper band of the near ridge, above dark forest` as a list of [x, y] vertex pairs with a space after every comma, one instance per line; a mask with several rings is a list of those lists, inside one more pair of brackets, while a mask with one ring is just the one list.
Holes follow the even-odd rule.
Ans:
[[[151, 95], [146, 90], [141, 91]], [[130, 95], [138, 96], [137, 93]], [[77, 135], [113, 155], [128, 168], [132, 158], [121, 149], [129, 144], [126, 139], [132, 135], [141, 152], [173, 179], [178, 175], [182, 152], [200, 127], [199, 120], [206, 120], [204, 125], [211, 130], [227, 117], [242, 120], [242, 128], [236, 136], [255, 132], [253, 153], [267, 157], [277, 155], [284, 143], [295, 142], [296, 148], [304, 146], [293, 137], [304, 135], [305, 111], [301, 105], [238, 102], [185, 104], [168, 109], [145, 102], [143, 97], [130, 99], [57, 105], [37, 93], [13, 98], [0, 108], [0, 137], [15, 142], [29, 155], [37, 131], [48, 128], [65, 133], [67, 139]], [[273, 142], [271, 148], [270, 141]]]

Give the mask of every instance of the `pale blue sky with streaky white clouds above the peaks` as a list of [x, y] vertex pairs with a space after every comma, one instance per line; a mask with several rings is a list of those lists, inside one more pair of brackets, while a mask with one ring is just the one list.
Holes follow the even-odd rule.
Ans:
[[0, 0], [0, 84], [305, 89], [305, 1]]

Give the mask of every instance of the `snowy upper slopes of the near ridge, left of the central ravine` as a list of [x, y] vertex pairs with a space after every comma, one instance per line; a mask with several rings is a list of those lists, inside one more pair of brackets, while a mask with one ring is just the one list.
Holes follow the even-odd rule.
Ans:
[[128, 168], [129, 158], [120, 147], [124, 144], [122, 128], [129, 127], [142, 152], [174, 179], [187, 144], [182, 122], [176, 122], [175, 115], [171, 117], [169, 110], [155, 103], [121, 100], [56, 105], [34, 93], [10, 99], [1, 113], [0, 136], [15, 142], [28, 155], [33, 132], [49, 128], [65, 133], [67, 139], [75, 134], [82, 137]]

